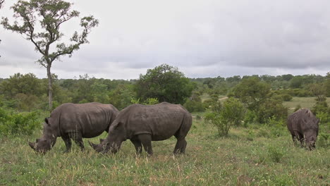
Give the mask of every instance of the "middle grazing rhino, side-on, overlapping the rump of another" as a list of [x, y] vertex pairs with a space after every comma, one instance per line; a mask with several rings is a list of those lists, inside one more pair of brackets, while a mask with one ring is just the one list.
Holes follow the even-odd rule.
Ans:
[[100, 144], [90, 145], [98, 152], [116, 153], [121, 143], [130, 140], [137, 154], [142, 145], [152, 155], [152, 141], [160, 141], [175, 136], [177, 139], [173, 153], [184, 153], [187, 142], [185, 136], [192, 125], [191, 114], [181, 105], [161, 104], [145, 106], [133, 104], [123, 109], [109, 128], [109, 134]]

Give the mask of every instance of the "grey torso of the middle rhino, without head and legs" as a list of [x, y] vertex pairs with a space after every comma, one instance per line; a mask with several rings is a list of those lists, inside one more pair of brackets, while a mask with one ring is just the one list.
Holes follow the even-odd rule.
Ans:
[[[126, 125], [126, 136], [151, 134], [153, 141], [166, 140], [180, 128], [191, 127], [191, 114], [181, 105], [161, 103], [152, 106], [134, 104], [121, 111], [118, 121]], [[114, 122], [116, 123], [116, 121]]]

